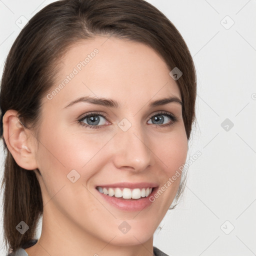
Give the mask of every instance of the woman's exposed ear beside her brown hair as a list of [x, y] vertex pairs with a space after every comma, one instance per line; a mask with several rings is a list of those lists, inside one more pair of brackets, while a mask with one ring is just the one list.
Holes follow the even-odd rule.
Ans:
[[29, 143], [35, 138], [20, 123], [18, 112], [13, 109], [7, 110], [3, 115], [2, 123], [4, 141], [16, 163], [24, 169], [36, 169], [34, 145]]

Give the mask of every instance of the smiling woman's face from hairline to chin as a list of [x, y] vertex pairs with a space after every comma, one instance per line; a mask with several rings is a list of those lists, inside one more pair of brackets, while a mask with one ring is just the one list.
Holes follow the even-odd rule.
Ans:
[[41, 108], [35, 159], [42, 232], [76, 232], [116, 245], [152, 238], [180, 175], [168, 180], [187, 154], [181, 104], [153, 103], [181, 101], [169, 71], [134, 41], [97, 36], [67, 51]]

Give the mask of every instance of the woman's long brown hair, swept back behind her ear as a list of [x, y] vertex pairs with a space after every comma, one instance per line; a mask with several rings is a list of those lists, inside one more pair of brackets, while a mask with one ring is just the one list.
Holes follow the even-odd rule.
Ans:
[[[1, 126], [5, 111], [14, 109], [25, 127], [36, 130], [41, 100], [54, 85], [58, 60], [73, 43], [96, 35], [142, 42], [158, 52], [170, 70], [178, 67], [182, 71], [176, 82], [189, 139], [196, 97], [192, 57], [174, 25], [144, 0], [59, 0], [37, 12], [17, 36], [5, 62], [0, 91]], [[4, 139], [3, 142], [7, 150], [2, 180], [4, 240], [5, 246], [9, 244], [8, 249], [15, 251], [34, 238], [43, 204], [34, 171], [17, 165]], [[176, 200], [184, 184], [185, 179], [180, 182]], [[16, 230], [20, 221], [29, 226], [24, 234]]]

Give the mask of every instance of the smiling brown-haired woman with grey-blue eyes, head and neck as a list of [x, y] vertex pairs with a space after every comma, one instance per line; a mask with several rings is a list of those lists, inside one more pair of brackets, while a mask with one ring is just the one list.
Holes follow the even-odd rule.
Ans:
[[166, 255], [153, 233], [184, 188], [195, 96], [184, 40], [146, 1], [35, 14], [1, 81], [9, 255]]

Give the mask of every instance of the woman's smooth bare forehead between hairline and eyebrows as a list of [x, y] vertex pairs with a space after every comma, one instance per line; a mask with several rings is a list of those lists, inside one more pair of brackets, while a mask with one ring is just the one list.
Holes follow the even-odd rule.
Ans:
[[81, 40], [60, 61], [50, 104], [63, 106], [86, 95], [114, 98], [123, 107], [163, 96], [181, 99], [169, 71], [162, 57], [140, 42], [107, 36]]

